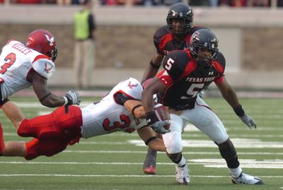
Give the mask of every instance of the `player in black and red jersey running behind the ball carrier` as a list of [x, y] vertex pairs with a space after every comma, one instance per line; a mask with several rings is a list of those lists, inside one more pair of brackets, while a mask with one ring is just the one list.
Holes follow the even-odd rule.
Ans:
[[[192, 26], [193, 14], [192, 8], [184, 3], [173, 4], [169, 8], [166, 18], [167, 25], [158, 28], [154, 34], [154, 46], [156, 51], [151, 59], [149, 66], [144, 71], [142, 82], [152, 78], [158, 72], [161, 61], [173, 50], [187, 49], [190, 43], [192, 33], [203, 27]], [[144, 160], [143, 170], [146, 174], [156, 173], [156, 152], [148, 150], [146, 159]]]

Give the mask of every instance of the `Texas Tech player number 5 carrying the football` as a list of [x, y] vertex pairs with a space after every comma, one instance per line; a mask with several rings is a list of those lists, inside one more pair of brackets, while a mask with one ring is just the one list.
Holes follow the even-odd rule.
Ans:
[[219, 117], [198, 93], [214, 82], [234, 112], [250, 129], [255, 121], [243, 110], [236, 92], [224, 77], [225, 58], [218, 51], [218, 40], [211, 30], [200, 29], [192, 34], [189, 49], [175, 50], [163, 60], [164, 70], [158, 73], [142, 93], [146, 121], [163, 132], [163, 124], [153, 112], [153, 95], [171, 111], [171, 131], [163, 134], [168, 157], [175, 162], [176, 181], [189, 184], [187, 163], [182, 155], [181, 133], [188, 122], [204, 132], [219, 147], [235, 184], [263, 184], [262, 179], [243, 173], [236, 149]]

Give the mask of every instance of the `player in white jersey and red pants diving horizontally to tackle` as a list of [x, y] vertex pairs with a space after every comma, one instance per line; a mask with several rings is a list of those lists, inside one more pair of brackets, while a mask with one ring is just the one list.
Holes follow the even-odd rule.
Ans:
[[[143, 88], [137, 79], [129, 78], [117, 84], [100, 102], [80, 108], [58, 107], [51, 114], [23, 119], [18, 135], [34, 137], [27, 143], [6, 142], [3, 156], [21, 156], [32, 160], [40, 155], [52, 156], [62, 152], [79, 139], [101, 136], [115, 131], [132, 133], [137, 130], [141, 139], [153, 150], [166, 148], [156, 133], [146, 125], [146, 114], [141, 105]], [[0, 133], [1, 134], [1, 133]], [[3, 134], [0, 136], [3, 141]]]

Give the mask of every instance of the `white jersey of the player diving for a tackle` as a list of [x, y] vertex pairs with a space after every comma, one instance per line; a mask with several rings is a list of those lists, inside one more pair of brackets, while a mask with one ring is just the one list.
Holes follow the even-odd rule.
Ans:
[[146, 119], [134, 119], [132, 113], [114, 99], [116, 93], [122, 93], [135, 100], [141, 100], [142, 90], [137, 79], [129, 78], [117, 84], [100, 102], [83, 107], [82, 137], [90, 138], [115, 131], [132, 133], [146, 126]]

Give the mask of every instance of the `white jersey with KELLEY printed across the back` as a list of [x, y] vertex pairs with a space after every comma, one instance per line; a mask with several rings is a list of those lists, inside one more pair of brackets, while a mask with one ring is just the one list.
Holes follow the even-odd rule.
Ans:
[[0, 83], [3, 99], [32, 85], [27, 81], [31, 69], [48, 79], [53, 75], [55, 65], [44, 54], [25, 47], [21, 42], [9, 40], [2, 48], [0, 55]]

